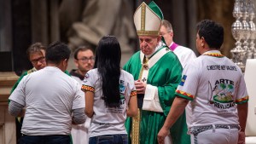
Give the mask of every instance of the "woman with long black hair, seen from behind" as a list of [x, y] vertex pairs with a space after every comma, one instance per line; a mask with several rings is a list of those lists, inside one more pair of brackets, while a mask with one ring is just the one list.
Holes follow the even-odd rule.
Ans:
[[96, 49], [95, 69], [85, 74], [85, 113], [91, 118], [89, 144], [127, 144], [127, 116], [137, 115], [133, 76], [121, 70], [121, 49], [114, 36], [102, 37]]

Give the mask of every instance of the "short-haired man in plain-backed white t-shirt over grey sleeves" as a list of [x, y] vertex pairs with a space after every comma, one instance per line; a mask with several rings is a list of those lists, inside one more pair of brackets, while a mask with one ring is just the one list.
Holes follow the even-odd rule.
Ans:
[[69, 55], [66, 44], [50, 44], [47, 66], [22, 78], [9, 96], [9, 113], [15, 117], [25, 114], [20, 143], [69, 144], [71, 124], [84, 123], [84, 93], [64, 73]]

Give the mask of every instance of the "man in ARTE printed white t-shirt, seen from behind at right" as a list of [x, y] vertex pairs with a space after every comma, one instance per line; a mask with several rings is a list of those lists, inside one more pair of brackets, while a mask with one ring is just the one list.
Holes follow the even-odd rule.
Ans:
[[201, 54], [183, 70], [166, 122], [158, 134], [163, 143], [186, 107], [192, 143], [244, 143], [247, 88], [241, 69], [219, 51], [224, 28], [212, 20], [197, 26], [196, 48]]

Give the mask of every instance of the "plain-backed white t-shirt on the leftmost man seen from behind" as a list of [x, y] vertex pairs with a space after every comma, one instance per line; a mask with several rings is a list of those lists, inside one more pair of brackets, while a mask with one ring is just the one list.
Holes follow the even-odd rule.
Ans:
[[25, 135], [69, 135], [72, 110], [85, 107], [80, 84], [55, 66], [26, 75], [9, 99], [26, 107]]

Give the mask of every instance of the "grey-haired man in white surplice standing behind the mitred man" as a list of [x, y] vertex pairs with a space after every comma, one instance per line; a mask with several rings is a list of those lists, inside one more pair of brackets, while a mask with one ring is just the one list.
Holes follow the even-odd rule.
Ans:
[[173, 51], [175, 55], [177, 55], [178, 60], [184, 66], [190, 61], [196, 58], [196, 55], [193, 50], [178, 45], [173, 42], [173, 30], [172, 24], [168, 20], [161, 21], [160, 27], [160, 36], [165, 38], [167, 46]]

